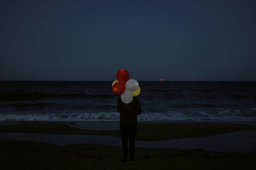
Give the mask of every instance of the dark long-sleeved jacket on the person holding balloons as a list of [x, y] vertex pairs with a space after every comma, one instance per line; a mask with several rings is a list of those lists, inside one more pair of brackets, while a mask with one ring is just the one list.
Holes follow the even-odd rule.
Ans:
[[121, 124], [135, 124], [137, 123], [137, 115], [141, 114], [140, 100], [134, 96], [131, 103], [125, 104], [118, 97], [117, 110], [120, 112]]

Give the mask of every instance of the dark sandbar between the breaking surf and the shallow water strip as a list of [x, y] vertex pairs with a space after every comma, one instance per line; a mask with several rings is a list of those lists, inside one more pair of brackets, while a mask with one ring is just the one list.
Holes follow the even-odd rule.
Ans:
[[[217, 134], [225, 134], [228, 132], [246, 131], [253, 129], [256, 129], [256, 125], [254, 124], [252, 125], [216, 122], [147, 122], [138, 123], [136, 139], [141, 141], [163, 141], [179, 138], [198, 138]], [[39, 134], [84, 134], [115, 136], [120, 138], [119, 129], [109, 131], [77, 129], [74, 127], [70, 127], [65, 122], [26, 122], [19, 124], [0, 124], [0, 132]]]

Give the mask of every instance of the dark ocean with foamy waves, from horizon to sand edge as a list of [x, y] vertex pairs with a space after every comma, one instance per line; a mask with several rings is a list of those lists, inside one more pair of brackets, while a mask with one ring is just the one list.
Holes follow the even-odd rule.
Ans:
[[[150, 122], [256, 122], [255, 81], [140, 81]], [[112, 81], [0, 81], [0, 121], [119, 121]]]

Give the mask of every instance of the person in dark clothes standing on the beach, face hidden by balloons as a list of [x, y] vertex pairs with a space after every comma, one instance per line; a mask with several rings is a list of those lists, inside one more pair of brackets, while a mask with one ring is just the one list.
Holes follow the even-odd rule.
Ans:
[[118, 97], [117, 110], [120, 112], [120, 132], [122, 138], [122, 162], [127, 161], [129, 141], [129, 161], [134, 162], [135, 136], [137, 131], [137, 116], [141, 114], [140, 100], [134, 96], [129, 104], [123, 103]]

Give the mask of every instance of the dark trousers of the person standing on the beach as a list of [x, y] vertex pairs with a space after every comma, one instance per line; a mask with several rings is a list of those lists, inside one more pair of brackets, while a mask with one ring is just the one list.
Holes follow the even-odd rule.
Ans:
[[136, 131], [137, 131], [137, 123], [136, 124], [120, 123], [120, 132], [122, 137], [122, 153], [124, 156], [127, 156], [128, 154], [128, 141], [129, 141], [129, 155], [130, 157], [134, 155]]

